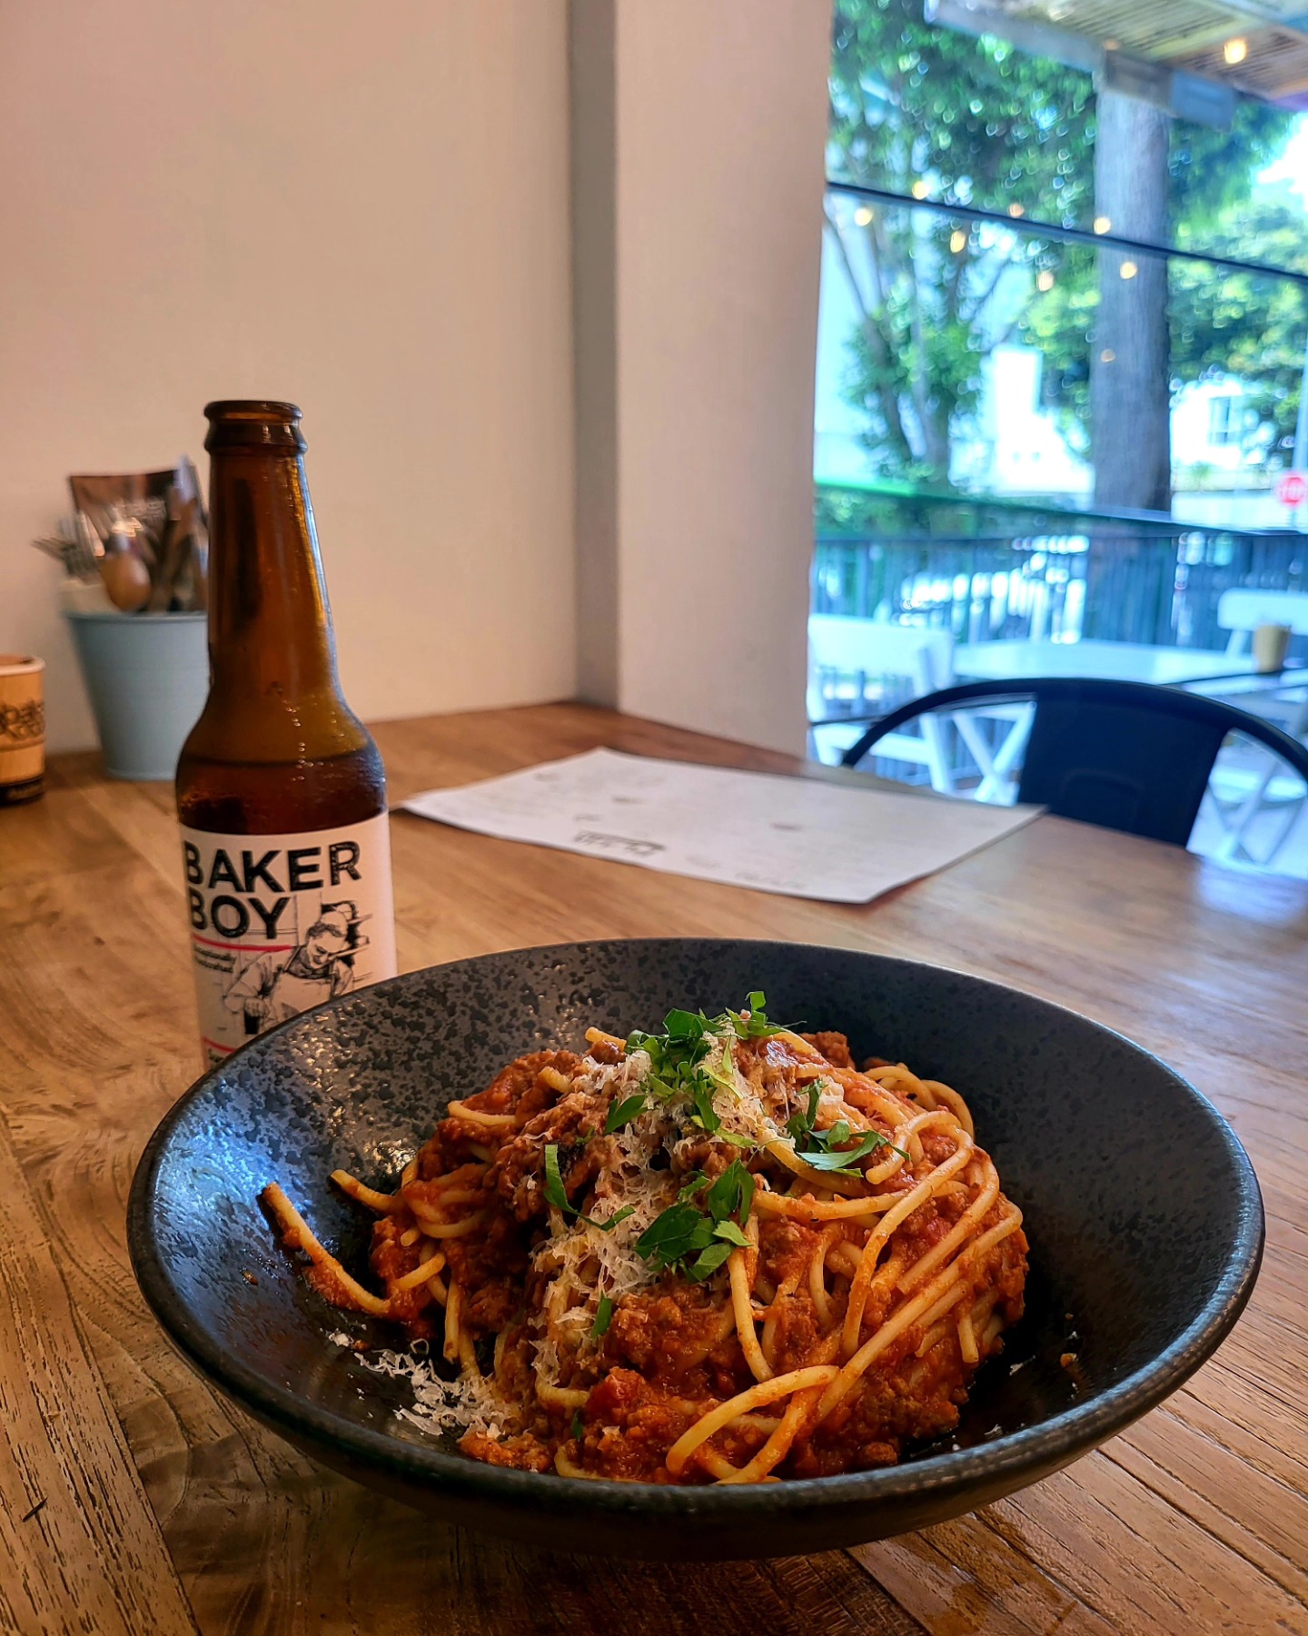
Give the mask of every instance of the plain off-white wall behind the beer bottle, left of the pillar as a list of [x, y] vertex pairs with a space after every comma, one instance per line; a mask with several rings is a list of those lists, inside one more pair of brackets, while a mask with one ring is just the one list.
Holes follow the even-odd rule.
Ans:
[[[656, 7], [657, 10], [657, 7]], [[291, 398], [352, 703], [574, 684], [566, 0], [0, 10], [0, 649], [69, 471], [203, 468], [209, 398]]]

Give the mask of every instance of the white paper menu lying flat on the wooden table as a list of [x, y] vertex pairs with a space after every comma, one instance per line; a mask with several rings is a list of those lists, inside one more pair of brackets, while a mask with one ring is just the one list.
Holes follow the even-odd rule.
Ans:
[[428, 790], [404, 810], [507, 841], [831, 903], [868, 903], [1040, 811], [613, 749]]

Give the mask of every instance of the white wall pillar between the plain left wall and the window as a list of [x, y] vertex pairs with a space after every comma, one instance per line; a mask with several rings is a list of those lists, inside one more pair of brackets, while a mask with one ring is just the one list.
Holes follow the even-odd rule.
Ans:
[[[607, 545], [582, 489], [602, 479], [587, 473], [590, 445], [579, 450], [579, 489], [595, 530], [582, 530], [582, 561], [602, 545], [616, 561], [616, 702], [800, 751], [831, 5], [608, 5], [616, 294], [607, 303], [580, 260], [602, 254], [603, 222], [590, 219], [577, 244], [576, 322], [582, 384], [602, 373], [587, 324], [598, 311], [610, 327], [616, 506]], [[574, 77], [574, 100], [579, 92], [585, 82]], [[594, 303], [580, 299], [587, 280]], [[582, 676], [600, 679], [600, 695], [603, 633], [590, 607]]]

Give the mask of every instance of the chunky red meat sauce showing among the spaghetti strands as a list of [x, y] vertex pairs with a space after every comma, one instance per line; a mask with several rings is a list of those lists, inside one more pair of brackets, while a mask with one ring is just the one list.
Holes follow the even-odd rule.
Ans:
[[[853, 1070], [844, 1036], [813, 1034], [806, 1039], [822, 1052], [831, 1067]], [[603, 1050], [613, 1052], [611, 1047], [600, 1045], [597, 1055]], [[765, 1106], [777, 1109], [773, 1117], [780, 1116], [778, 1124], [783, 1124], [786, 1112], [803, 1104], [793, 1052], [778, 1050], [775, 1040], [762, 1040], [747, 1042], [742, 1055], [750, 1055], [746, 1072]], [[461, 1446], [479, 1459], [523, 1471], [553, 1469], [554, 1453], [564, 1448], [574, 1466], [597, 1477], [641, 1482], [710, 1481], [708, 1472], [697, 1467], [674, 1479], [665, 1456], [703, 1414], [754, 1384], [724, 1291], [724, 1273], [698, 1284], [664, 1273], [649, 1288], [623, 1296], [613, 1306], [598, 1356], [592, 1351], [585, 1371], [577, 1371], [571, 1381], [566, 1374], [559, 1379], [564, 1391], [585, 1391], [584, 1404], [579, 1409], [554, 1409], [536, 1402], [528, 1310], [540, 1294], [535, 1289], [540, 1274], [533, 1273], [531, 1253], [548, 1235], [544, 1145], [558, 1145], [569, 1198], [585, 1191], [608, 1157], [605, 1139], [595, 1134], [603, 1130], [607, 1098], [558, 1088], [559, 1076], [571, 1080], [580, 1067], [577, 1055], [562, 1050], [535, 1052], [510, 1063], [487, 1090], [464, 1103], [468, 1109], [486, 1114], [512, 1112], [517, 1126], [507, 1139], [494, 1127], [487, 1134], [487, 1126], [455, 1116], [437, 1126], [419, 1153], [420, 1183], [435, 1183], [438, 1176], [466, 1166], [458, 1180], [448, 1183], [459, 1196], [453, 1214], [479, 1211], [482, 1222], [476, 1232], [443, 1240], [448, 1276], [461, 1288], [461, 1320], [477, 1342], [482, 1368], [490, 1368], [490, 1343], [499, 1337], [497, 1378], [523, 1405], [520, 1423], [510, 1435], [495, 1438], [484, 1432], [468, 1432]], [[953, 1150], [948, 1140], [930, 1134], [924, 1134], [922, 1147], [932, 1163], [940, 1163]], [[739, 1157], [739, 1150], [706, 1137], [700, 1152], [692, 1157], [711, 1176]], [[782, 1186], [786, 1180], [790, 1178], [782, 1175], [777, 1184]], [[911, 1175], [901, 1173], [889, 1184], [907, 1189], [914, 1181]], [[435, 1202], [438, 1198], [435, 1188], [428, 1193], [422, 1186], [412, 1196], [420, 1202]], [[965, 1207], [961, 1194], [947, 1191], [914, 1211], [894, 1240], [906, 1265], [938, 1243]], [[983, 1220], [983, 1230], [1002, 1219], [1002, 1209], [1001, 1196]], [[412, 1225], [409, 1211], [376, 1222], [373, 1270], [387, 1289], [419, 1265], [417, 1245], [404, 1243]], [[760, 1220], [755, 1310], [767, 1307], [777, 1374], [811, 1363], [824, 1335], [831, 1333], [832, 1325], [839, 1327], [845, 1315], [850, 1288], [847, 1273], [827, 1271], [826, 1322], [819, 1317], [809, 1289], [808, 1271], [822, 1227], [816, 1219]], [[849, 1237], [852, 1253], [857, 1255], [860, 1235], [850, 1232]], [[829, 1238], [827, 1256], [832, 1252], [839, 1256], [844, 1232], [837, 1227]], [[976, 1296], [994, 1296], [994, 1312], [1004, 1324], [1022, 1315], [1025, 1253], [1027, 1240], [1019, 1229], [966, 1274]], [[404, 1299], [402, 1320], [410, 1335], [432, 1340], [440, 1332], [440, 1312], [430, 1291], [420, 1286]], [[896, 1299], [886, 1281], [873, 1284], [863, 1312], [862, 1340], [885, 1322]], [[780, 1474], [818, 1477], [886, 1466], [901, 1458], [906, 1443], [952, 1430], [958, 1422], [958, 1409], [966, 1400], [974, 1366], [965, 1363], [952, 1327], [919, 1358], [924, 1333], [922, 1325], [916, 1324], [891, 1343], [844, 1402], [811, 1435], [793, 1445]], [[999, 1346], [994, 1340], [989, 1350], [996, 1351]], [[597, 1371], [598, 1381], [594, 1379]], [[744, 1464], [757, 1453], [767, 1427], [775, 1423], [782, 1407], [760, 1410], [752, 1417], [754, 1423], [718, 1432], [711, 1441], [713, 1451], [732, 1464]]]

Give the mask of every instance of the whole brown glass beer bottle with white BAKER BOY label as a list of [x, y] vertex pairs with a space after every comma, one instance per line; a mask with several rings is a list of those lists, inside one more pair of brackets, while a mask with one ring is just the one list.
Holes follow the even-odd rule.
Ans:
[[396, 972], [386, 774], [340, 694], [299, 409], [213, 402], [209, 697], [177, 811], [208, 1063]]

